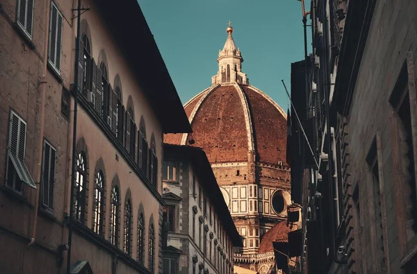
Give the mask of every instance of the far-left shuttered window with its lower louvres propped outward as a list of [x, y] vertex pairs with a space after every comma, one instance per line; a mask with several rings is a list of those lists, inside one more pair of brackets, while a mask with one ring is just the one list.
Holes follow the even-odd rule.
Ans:
[[26, 123], [10, 112], [10, 127], [8, 137], [8, 161], [6, 166], [6, 186], [22, 193], [23, 183], [36, 189], [31, 173], [29, 173], [25, 158]]

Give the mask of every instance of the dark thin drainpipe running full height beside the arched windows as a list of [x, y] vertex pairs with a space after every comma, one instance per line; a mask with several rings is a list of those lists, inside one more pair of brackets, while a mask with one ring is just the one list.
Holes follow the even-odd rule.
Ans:
[[74, 219], [74, 185], [75, 185], [75, 166], [76, 166], [76, 155], [75, 155], [75, 146], [76, 146], [76, 112], [78, 106], [78, 75], [79, 75], [79, 65], [78, 65], [78, 56], [80, 49], [79, 40], [81, 39], [80, 35], [80, 25], [81, 25], [81, 0], [78, 0], [78, 8], [76, 8], [76, 42], [75, 42], [75, 73], [74, 73], [74, 125], [72, 130], [72, 169], [71, 169], [71, 191], [70, 191], [70, 220], [68, 224], [68, 252], [67, 252], [67, 274], [70, 274], [71, 268], [71, 250], [72, 250], [72, 223]]

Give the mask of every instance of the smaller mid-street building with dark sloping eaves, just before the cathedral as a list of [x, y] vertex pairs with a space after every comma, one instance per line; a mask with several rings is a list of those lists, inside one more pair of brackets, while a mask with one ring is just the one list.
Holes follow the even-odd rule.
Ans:
[[201, 148], [164, 145], [164, 273], [234, 273], [242, 239]]

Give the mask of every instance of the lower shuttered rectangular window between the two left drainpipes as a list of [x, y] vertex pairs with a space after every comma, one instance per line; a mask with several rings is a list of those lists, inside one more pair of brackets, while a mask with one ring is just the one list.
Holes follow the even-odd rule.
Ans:
[[55, 185], [55, 156], [56, 150], [44, 141], [42, 158], [42, 207], [52, 211], [54, 209]]

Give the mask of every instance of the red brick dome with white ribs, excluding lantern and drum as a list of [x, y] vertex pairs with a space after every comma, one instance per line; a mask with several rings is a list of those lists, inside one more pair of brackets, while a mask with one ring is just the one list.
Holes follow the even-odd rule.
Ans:
[[184, 105], [193, 134], [165, 135], [168, 144], [204, 149], [213, 163], [274, 164], [286, 159], [286, 113], [252, 85], [213, 85]]

